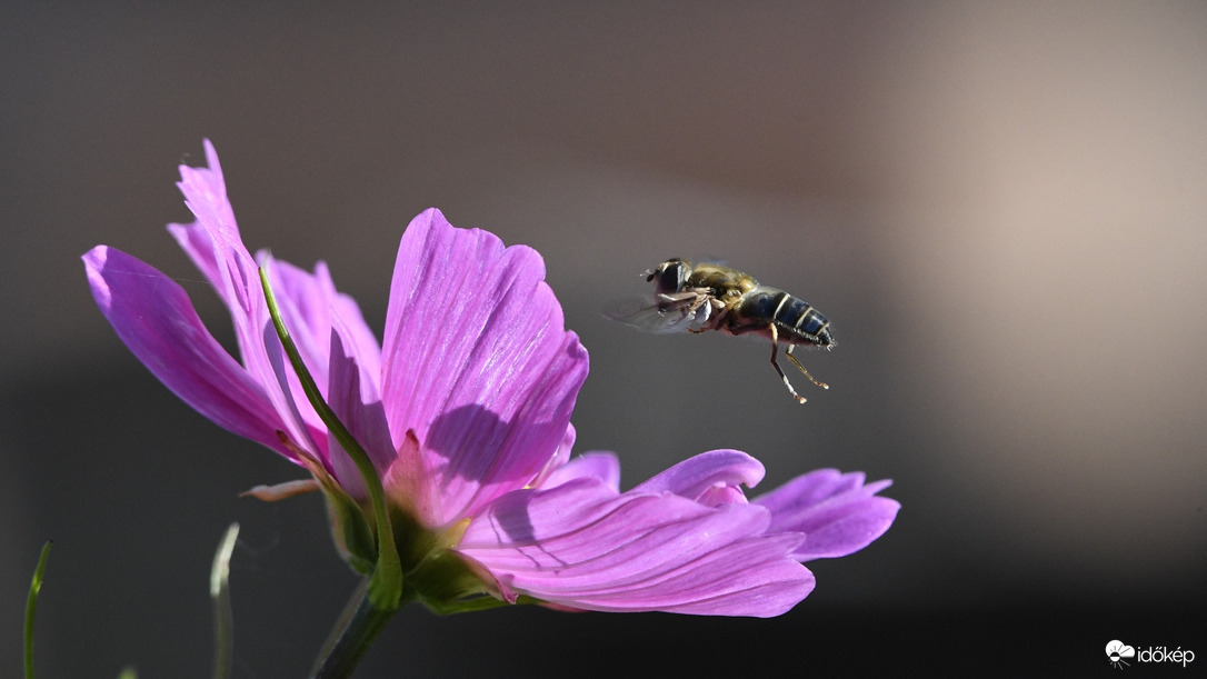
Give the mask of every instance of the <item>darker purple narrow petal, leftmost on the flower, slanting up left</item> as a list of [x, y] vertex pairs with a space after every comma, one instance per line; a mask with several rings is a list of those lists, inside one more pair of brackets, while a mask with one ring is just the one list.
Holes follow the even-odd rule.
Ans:
[[284, 425], [264, 390], [205, 329], [183, 288], [104, 245], [83, 263], [101, 314], [159, 381], [227, 431], [297, 460], [276, 437]]

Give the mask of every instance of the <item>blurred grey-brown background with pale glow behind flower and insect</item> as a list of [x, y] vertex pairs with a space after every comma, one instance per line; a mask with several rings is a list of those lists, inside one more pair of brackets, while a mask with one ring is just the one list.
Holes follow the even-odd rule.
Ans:
[[[576, 449], [625, 487], [736, 447], [762, 490], [836, 467], [903, 505], [777, 619], [413, 607], [360, 677], [1207, 662], [1207, 5], [169, 5], [0, 10], [0, 672], [48, 538], [45, 677], [206, 675], [232, 521], [235, 677], [303, 675], [355, 586], [320, 497], [238, 497], [302, 470], [176, 400], [88, 293], [78, 257], [119, 247], [229, 345], [163, 229], [203, 137], [249, 247], [325, 259], [378, 329], [425, 207], [540, 250], [591, 357]], [[817, 306], [832, 388], [798, 375], [800, 406], [765, 344], [600, 316], [671, 256]]]

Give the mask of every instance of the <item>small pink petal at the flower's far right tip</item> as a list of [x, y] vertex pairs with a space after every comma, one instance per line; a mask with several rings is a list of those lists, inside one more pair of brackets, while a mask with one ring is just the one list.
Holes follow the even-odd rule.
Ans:
[[818, 469], [754, 498], [771, 511], [770, 531], [805, 533], [794, 552], [799, 561], [832, 558], [859, 551], [893, 523], [900, 504], [876, 497], [892, 481], [863, 484], [863, 473]]

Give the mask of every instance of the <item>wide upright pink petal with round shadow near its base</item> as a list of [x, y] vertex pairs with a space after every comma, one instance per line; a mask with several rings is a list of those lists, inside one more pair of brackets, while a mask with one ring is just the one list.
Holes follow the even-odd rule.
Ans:
[[402, 236], [381, 358], [395, 446], [415, 431], [444, 522], [546, 468], [587, 376], [541, 256], [435, 209]]

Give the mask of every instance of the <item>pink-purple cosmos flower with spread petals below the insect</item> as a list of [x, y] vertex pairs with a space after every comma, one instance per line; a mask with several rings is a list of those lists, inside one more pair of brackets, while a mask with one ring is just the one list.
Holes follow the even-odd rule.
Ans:
[[[535, 601], [554, 608], [779, 615], [814, 587], [801, 562], [851, 554], [899, 505], [862, 474], [820, 470], [747, 501], [753, 457], [716, 450], [637, 487], [611, 453], [570, 457], [587, 351], [533, 250], [459, 229], [432, 209], [402, 235], [383, 344], [322, 263], [305, 271], [243, 245], [217, 156], [181, 166], [192, 224], [169, 230], [231, 311], [241, 361], [154, 268], [98, 246], [83, 261], [118, 336], [176, 396], [307, 468], [345, 558], [374, 557], [366, 484], [302, 391], [273, 330], [268, 271], [303, 363], [380, 479], [408, 587], [428, 605]], [[352, 511], [354, 515], [357, 511]], [[368, 535], [368, 538], [366, 537]], [[451, 568], [450, 568], [451, 564]]]

